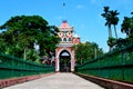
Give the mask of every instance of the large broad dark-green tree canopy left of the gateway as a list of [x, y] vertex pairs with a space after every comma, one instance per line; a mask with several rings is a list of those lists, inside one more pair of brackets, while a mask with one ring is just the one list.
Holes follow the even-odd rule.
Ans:
[[[32, 61], [43, 56], [44, 50], [54, 51], [59, 41], [57, 27], [49, 26], [40, 16], [12, 17], [0, 29], [4, 30], [0, 33], [0, 51], [21, 58], [28, 52], [27, 59]], [[34, 44], [40, 48], [38, 53]]]

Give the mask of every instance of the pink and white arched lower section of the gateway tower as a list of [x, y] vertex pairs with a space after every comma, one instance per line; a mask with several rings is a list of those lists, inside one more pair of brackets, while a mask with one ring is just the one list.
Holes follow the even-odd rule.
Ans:
[[[55, 71], [63, 71], [61, 69], [62, 59], [68, 60], [64, 67], [69, 67], [69, 68], [68, 70], [64, 68], [64, 71], [73, 71], [74, 70], [73, 50], [70, 47], [60, 47], [60, 48], [57, 48], [55, 52], [57, 52], [55, 53]], [[64, 57], [62, 57], [61, 55], [64, 55]]]

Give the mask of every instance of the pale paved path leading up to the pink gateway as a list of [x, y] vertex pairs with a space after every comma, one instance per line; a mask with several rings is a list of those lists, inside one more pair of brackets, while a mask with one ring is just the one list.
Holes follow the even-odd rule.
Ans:
[[55, 73], [3, 89], [104, 89], [73, 73]]

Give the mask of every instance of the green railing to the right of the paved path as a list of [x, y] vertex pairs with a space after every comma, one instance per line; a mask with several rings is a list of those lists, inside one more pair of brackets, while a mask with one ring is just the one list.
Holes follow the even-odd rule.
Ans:
[[79, 73], [133, 82], [133, 44], [75, 67]]

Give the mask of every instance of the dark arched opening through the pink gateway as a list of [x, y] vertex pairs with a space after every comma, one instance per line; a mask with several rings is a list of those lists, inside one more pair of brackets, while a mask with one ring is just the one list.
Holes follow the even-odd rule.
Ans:
[[61, 72], [71, 71], [71, 55], [66, 50], [63, 50], [60, 53], [60, 71]]

